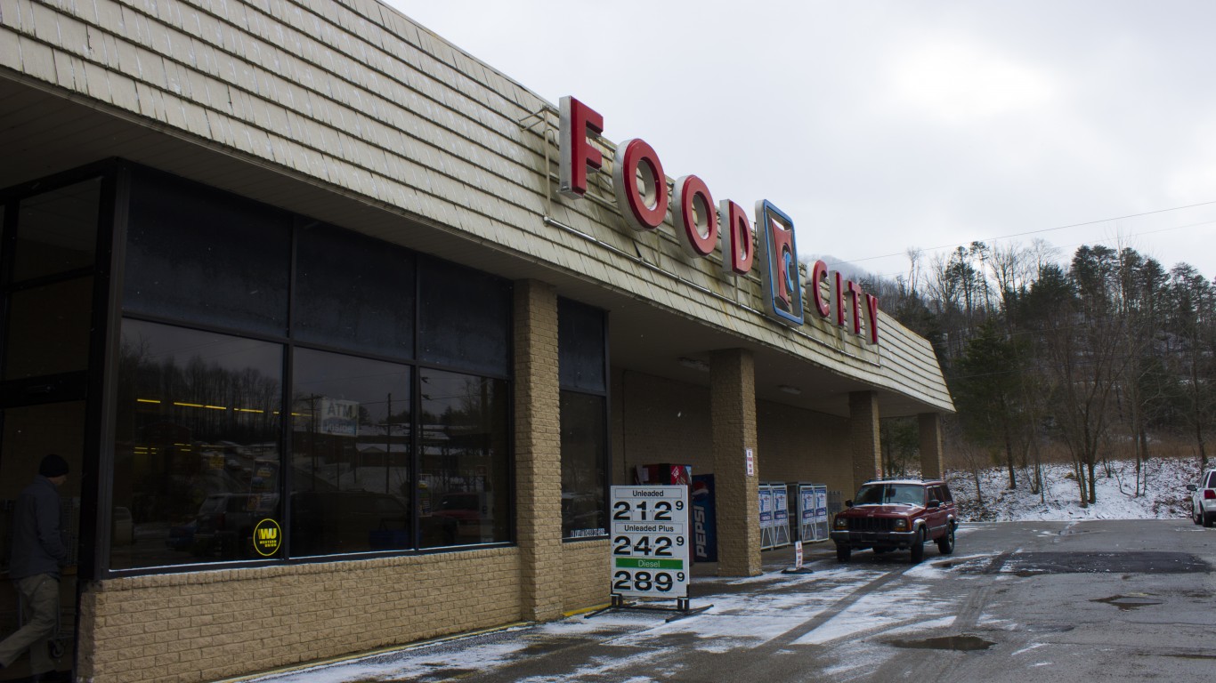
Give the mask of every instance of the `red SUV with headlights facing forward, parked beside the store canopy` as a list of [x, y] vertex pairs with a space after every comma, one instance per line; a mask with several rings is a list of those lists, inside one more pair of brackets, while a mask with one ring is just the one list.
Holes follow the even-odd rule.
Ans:
[[924, 558], [924, 543], [934, 541], [944, 555], [955, 552], [958, 519], [955, 498], [936, 479], [876, 479], [861, 485], [857, 496], [832, 523], [837, 559], [849, 561], [852, 551], [874, 553], [911, 551], [912, 564]]

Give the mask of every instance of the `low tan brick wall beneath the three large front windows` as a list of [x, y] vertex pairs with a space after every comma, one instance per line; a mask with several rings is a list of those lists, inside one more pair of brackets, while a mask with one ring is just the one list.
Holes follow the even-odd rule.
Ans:
[[510, 623], [519, 557], [494, 548], [96, 582], [81, 598], [79, 674], [216, 681]]

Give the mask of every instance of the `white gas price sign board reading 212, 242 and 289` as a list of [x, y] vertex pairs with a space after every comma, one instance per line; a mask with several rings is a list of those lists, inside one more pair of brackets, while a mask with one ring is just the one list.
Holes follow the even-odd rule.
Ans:
[[688, 597], [688, 487], [612, 487], [612, 592]]

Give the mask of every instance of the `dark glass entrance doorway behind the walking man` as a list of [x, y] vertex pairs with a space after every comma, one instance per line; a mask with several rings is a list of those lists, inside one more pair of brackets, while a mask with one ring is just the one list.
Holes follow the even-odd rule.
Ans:
[[[71, 671], [75, 656], [77, 559], [80, 548], [94, 542], [94, 524], [86, 524], [83, 544], [79, 534], [81, 496], [88, 502], [96, 498], [96, 482], [85, 476], [96, 472], [97, 457], [97, 435], [88, 436], [85, 397], [100, 395], [90, 391], [96, 386], [90, 379], [96, 374], [90, 350], [100, 348], [103, 327], [95, 320], [94, 301], [105, 280], [95, 266], [103, 232], [98, 231], [101, 199], [111, 187], [105, 176], [86, 170], [0, 192], [0, 638], [16, 630], [22, 616], [9, 577], [16, 499], [38, 474], [43, 457], [56, 453], [69, 468], [58, 491], [69, 564], [60, 583], [60, 622], [51, 649], [61, 671]], [[84, 564], [88, 575], [91, 563]], [[0, 671], [0, 683], [24, 676], [29, 676], [28, 655]]]

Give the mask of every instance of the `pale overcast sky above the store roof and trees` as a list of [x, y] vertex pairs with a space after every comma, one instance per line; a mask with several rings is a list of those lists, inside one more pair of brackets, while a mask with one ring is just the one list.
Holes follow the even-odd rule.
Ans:
[[1216, 2], [389, 4], [715, 201], [770, 199], [804, 258], [895, 277], [1040, 237], [1216, 276]]

